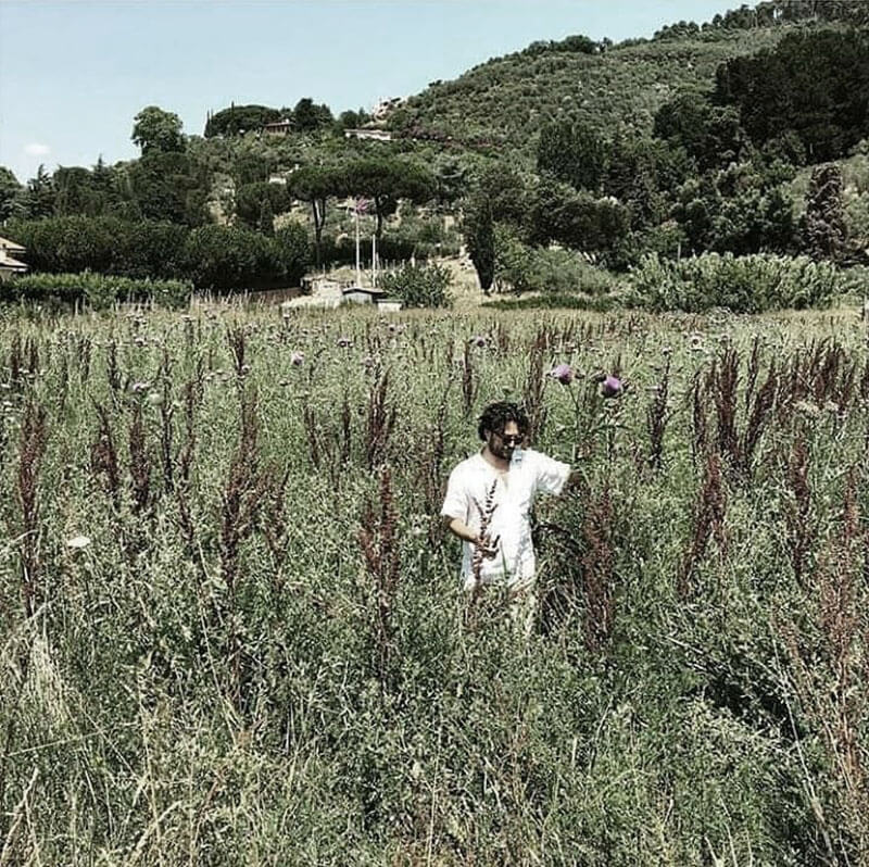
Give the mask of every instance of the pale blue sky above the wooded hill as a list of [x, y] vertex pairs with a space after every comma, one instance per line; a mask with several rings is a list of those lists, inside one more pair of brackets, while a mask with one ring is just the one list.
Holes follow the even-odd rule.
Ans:
[[133, 118], [176, 112], [201, 135], [230, 102], [337, 115], [408, 96], [537, 39], [614, 41], [702, 23], [727, 0], [0, 0], [0, 165], [137, 155]]

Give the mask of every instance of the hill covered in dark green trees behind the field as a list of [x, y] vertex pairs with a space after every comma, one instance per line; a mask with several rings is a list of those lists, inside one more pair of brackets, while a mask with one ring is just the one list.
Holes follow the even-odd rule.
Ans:
[[[269, 237], [294, 225], [311, 261], [328, 265], [352, 260], [347, 203], [361, 199], [382, 255], [463, 241], [484, 290], [576, 285], [580, 260], [616, 271], [703, 252], [860, 262], [867, 21], [864, 3], [774, 0], [652, 39], [534, 42], [377, 120], [304, 97], [227, 106], [197, 136], [148, 106], [134, 122], [139, 160], [40, 169], [26, 186], [0, 172], [0, 221], [25, 243], [65, 237], [33, 224], [70, 216]], [[264, 130], [278, 120], [286, 135]], [[360, 125], [392, 140], [348, 137]], [[64, 264], [43, 253], [34, 264]]]

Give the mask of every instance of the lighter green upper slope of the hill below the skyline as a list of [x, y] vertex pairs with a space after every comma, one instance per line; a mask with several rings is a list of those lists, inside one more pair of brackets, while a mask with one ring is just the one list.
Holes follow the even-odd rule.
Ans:
[[714, 30], [625, 43], [588, 54], [557, 49], [496, 58], [451, 81], [432, 83], [393, 117], [414, 134], [489, 140], [526, 159], [541, 126], [569, 115], [612, 133], [651, 127], [655, 111], [684, 89], [708, 90], [720, 63], [774, 46], [805, 25]]

